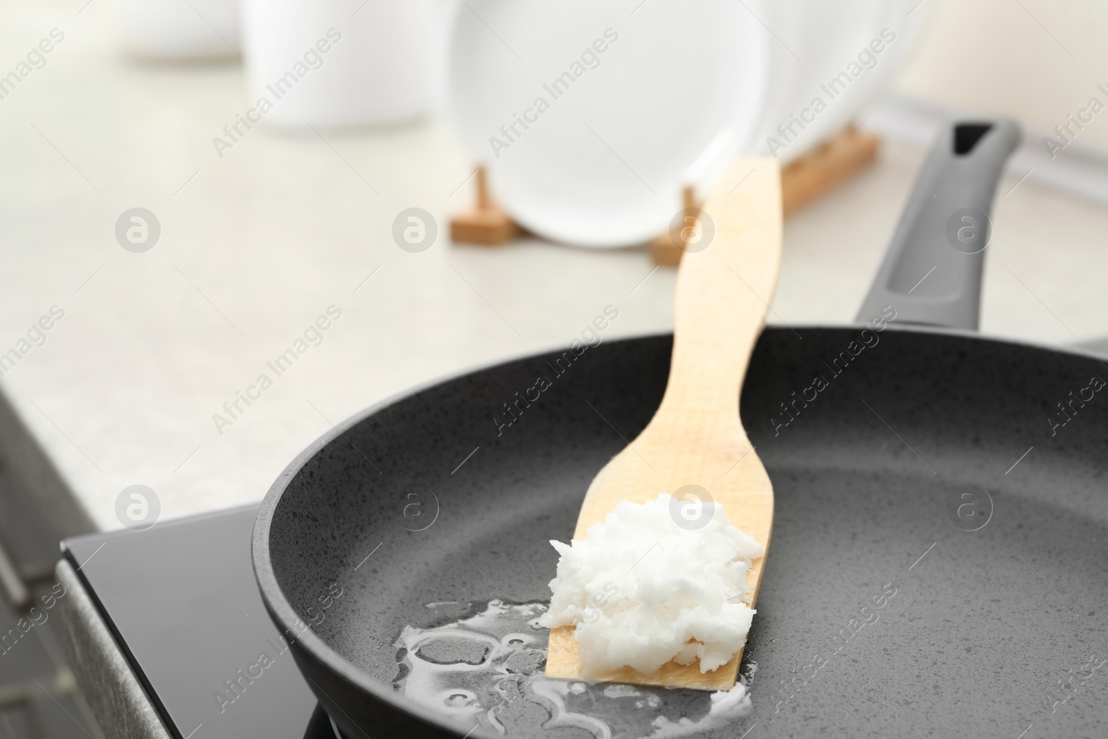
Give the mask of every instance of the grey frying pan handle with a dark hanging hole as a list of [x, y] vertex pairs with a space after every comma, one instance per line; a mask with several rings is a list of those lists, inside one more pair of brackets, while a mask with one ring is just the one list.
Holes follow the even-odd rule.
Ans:
[[[858, 314], [891, 306], [896, 322], [976, 330], [989, 212], [1019, 127], [1008, 119], [944, 126], [927, 154], [884, 261]], [[889, 316], [885, 315], [885, 318]]]

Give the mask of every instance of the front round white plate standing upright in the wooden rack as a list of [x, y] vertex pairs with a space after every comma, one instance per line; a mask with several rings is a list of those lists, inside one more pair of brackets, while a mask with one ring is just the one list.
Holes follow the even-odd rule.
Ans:
[[468, 0], [452, 107], [520, 224], [579, 246], [637, 244], [667, 228], [685, 185], [702, 192], [751, 146], [767, 54], [733, 0]]

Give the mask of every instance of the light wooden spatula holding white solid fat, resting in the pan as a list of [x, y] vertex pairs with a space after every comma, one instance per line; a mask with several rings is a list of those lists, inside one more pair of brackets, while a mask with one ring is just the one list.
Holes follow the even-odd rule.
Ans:
[[[583, 540], [620, 500], [645, 503], [686, 485], [706, 490], [731, 523], [769, 551], [773, 489], [739, 420], [739, 390], [761, 332], [781, 261], [781, 183], [769, 157], [736, 160], [716, 185], [701, 218], [700, 240], [690, 244], [677, 274], [674, 352], [658, 411], [632, 444], [608, 462], [585, 494], [574, 538]], [[710, 237], [710, 240], [709, 240]], [[753, 606], [766, 557], [755, 561], [747, 583]], [[654, 675], [624, 667], [593, 681], [660, 685], [706, 690], [735, 686], [742, 650], [701, 674], [668, 663]], [[546, 675], [579, 678], [573, 627], [551, 630]]]

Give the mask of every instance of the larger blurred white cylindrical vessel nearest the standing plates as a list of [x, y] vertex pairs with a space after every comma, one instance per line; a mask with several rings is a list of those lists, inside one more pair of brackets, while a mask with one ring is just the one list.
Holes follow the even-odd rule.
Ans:
[[244, 0], [256, 116], [304, 129], [432, 113], [444, 96], [454, 10], [453, 0]]

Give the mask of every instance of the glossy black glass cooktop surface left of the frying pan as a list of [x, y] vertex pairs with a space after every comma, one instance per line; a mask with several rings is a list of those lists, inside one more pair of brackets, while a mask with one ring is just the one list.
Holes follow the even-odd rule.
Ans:
[[64, 542], [176, 739], [335, 739], [254, 579], [257, 509]]

